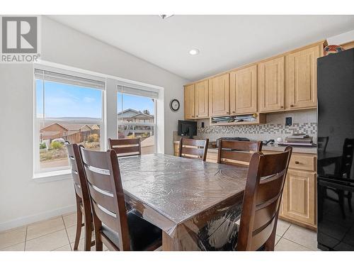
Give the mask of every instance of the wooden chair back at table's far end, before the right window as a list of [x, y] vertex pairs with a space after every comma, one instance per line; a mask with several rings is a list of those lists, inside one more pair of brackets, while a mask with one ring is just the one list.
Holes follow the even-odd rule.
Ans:
[[140, 138], [108, 138], [108, 145], [117, 153], [117, 157], [142, 155]]

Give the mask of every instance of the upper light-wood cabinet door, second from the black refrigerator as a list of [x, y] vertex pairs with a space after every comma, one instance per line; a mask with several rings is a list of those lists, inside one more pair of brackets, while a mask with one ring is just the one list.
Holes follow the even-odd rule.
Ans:
[[258, 64], [258, 92], [260, 111], [284, 109], [285, 58], [278, 57]]

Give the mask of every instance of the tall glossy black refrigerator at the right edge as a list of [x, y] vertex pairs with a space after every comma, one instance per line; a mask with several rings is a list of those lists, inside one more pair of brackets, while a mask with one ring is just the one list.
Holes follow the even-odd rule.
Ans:
[[354, 49], [317, 60], [317, 243], [354, 250]]

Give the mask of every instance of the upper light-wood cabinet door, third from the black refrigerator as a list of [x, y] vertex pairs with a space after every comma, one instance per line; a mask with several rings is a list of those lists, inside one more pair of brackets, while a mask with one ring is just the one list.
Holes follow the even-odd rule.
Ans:
[[230, 111], [232, 114], [257, 111], [257, 65], [230, 73]]

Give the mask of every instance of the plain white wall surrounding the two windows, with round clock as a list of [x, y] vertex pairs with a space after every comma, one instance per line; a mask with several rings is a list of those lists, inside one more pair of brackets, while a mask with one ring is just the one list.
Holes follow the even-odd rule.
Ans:
[[[41, 55], [42, 60], [164, 87], [164, 150], [173, 153], [188, 80], [45, 17]], [[33, 66], [0, 64], [0, 91], [0, 231], [74, 210], [71, 179], [33, 180]], [[177, 113], [169, 109], [174, 98], [181, 102]]]

